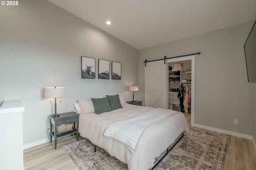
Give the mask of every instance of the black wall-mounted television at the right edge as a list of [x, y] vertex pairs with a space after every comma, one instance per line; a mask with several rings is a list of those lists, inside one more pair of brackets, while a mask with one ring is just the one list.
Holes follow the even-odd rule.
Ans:
[[244, 43], [248, 82], [256, 83], [256, 21]]

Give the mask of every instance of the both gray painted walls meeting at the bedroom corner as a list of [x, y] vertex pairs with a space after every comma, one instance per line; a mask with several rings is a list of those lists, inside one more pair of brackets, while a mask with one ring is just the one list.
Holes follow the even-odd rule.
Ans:
[[[196, 57], [195, 123], [256, 139], [256, 85], [247, 82], [243, 51], [253, 22], [139, 53], [48, 1], [0, 6], [0, 23], [0, 105], [7, 99], [22, 99], [24, 144], [47, 138], [54, 100], [43, 98], [44, 87], [66, 87], [62, 103], [57, 100], [59, 113], [73, 111], [77, 99], [124, 92], [131, 100], [127, 86], [132, 84], [139, 85], [136, 100], [144, 102], [143, 61], [194, 52], [201, 52]], [[81, 79], [80, 56], [96, 58], [96, 73], [98, 59], [122, 63], [122, 80]]]

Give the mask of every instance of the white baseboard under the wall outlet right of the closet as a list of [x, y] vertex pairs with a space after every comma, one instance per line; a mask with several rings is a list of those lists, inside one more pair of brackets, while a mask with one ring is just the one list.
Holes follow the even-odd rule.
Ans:
[[[199, 124], [195, 124], [195, 123], [193, 125], [191, 125], [191, 126], [199, 127], [199, 128], [202, 128], [202, 129], [207, 129], [207, 130], [215, 131], [215, 132], [219, 132], [219, 133], [224, 133], [224, 134], [227, 134], [227, 135], [233, 135], [233, 136], [236, 136], [236, 137], [242, 137], [242, 138], [250, 139], [250, 140], [254, 141], [254, 138], [251, 135], [245, 135], [245, 134], [242, 134], [242, 133], [226, 131], [226, 130], [223, 130], [223, 129], [218, 129], [218, 128], [215, 128], [215, 127], [199, 125]], [[255, 141], [254, 141], [254, 144], [255, 144]]]

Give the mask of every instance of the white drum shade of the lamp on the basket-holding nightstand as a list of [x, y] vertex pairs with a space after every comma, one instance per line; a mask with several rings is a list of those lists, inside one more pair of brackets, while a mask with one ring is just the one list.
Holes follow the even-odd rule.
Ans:
[[62, 98], [66, 95], [66, 88], [64, 87], [46, 87], [44, 88], [45, 98]]

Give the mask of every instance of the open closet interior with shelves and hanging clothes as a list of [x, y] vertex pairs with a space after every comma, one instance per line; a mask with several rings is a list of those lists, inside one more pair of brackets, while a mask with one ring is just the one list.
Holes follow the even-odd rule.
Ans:
[[191, 113], [191, 60], [168, 62], [168, 107]]

